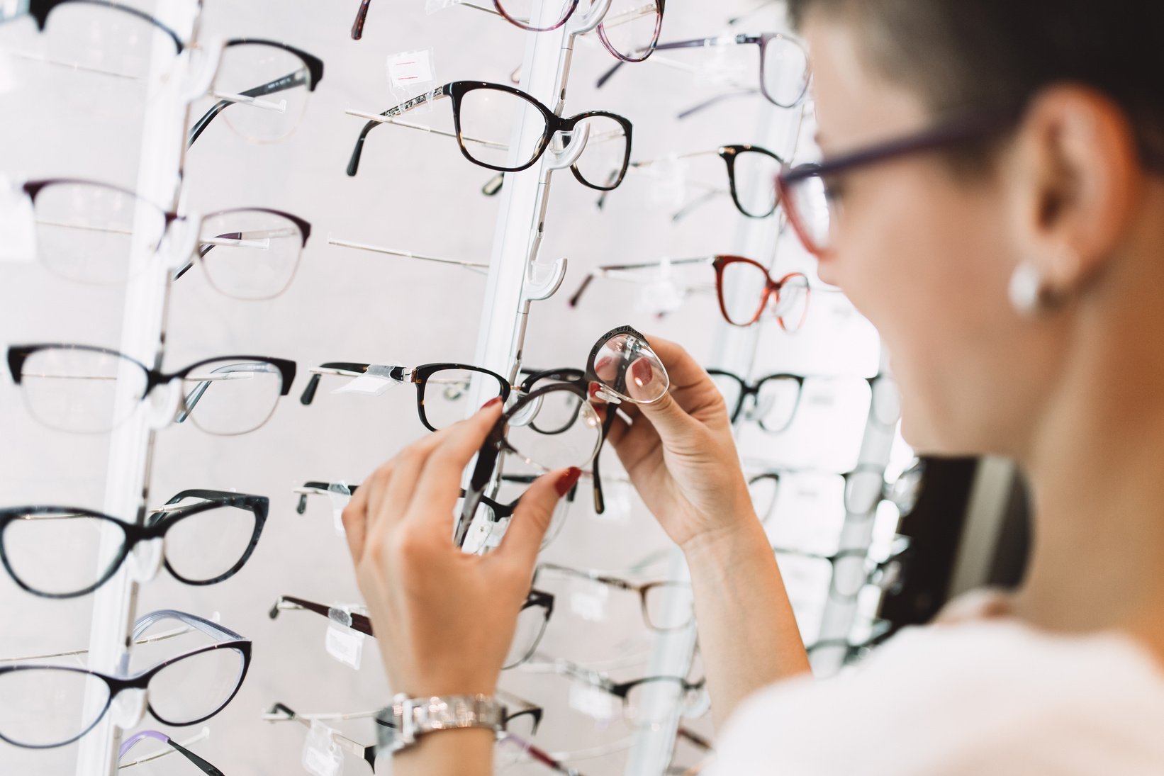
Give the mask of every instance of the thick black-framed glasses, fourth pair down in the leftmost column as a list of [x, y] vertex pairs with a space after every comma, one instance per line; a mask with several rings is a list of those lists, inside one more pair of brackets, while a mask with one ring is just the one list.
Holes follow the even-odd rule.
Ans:
[[264, 496], [185, 490], [151, 510], [144, 526], [72, 506], [0, 508], [0, 561], [23, 590], [76, 598], [108, 582], [136, 548], [144, 574], [158, 563], [187, 585], [229, 579], [250, 558], [267, 522]]

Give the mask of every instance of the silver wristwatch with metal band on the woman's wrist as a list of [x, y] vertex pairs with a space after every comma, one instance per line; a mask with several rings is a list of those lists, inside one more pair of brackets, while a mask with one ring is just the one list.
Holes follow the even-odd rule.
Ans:
[[504, 731], [505, 705], [492, 696], [409, 698], [402, 693], [376, 714], [376, 722], [377, 752], [396, 754], [433, 731], [464, 727]]

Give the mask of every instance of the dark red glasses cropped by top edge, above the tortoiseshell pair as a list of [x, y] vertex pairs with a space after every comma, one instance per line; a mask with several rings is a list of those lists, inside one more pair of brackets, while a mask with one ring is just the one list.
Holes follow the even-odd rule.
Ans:
[[[611, 55], [622, 62], [643, 62], [651, 56], [662, 29], [662, 13], [666, 0], [612, 0], [610, 8], [598, 24], [598, 38]], [[371, 0], [360, 0], [352, 40], [363, 37]], [[471, 2], [462, 3], [476, 10], [485, 10], [503, 16], [510, 23], [531, 33], [548, 33], [558, 29], [577, 10], [579, 0], [546, 2], [540, 6], [541, 15], [533, 16], [539, 6], [532, 0], [492, 0], [492, 8]]]

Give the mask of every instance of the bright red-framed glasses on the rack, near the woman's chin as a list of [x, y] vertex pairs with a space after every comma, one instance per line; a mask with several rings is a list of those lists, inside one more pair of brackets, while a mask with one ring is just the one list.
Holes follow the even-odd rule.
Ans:
[[667, 258], [662, 262], [606, 264], [587, 275], [570, 297], [570, 307], [577, 306], [596, 276], [647, 270], [662, 264], [668, 266], [710, 264], [715, 268], [719, 312], [732, 326], [745, 327], [757, 323], [769, 306], [776, 322], [788, 333], [799, 332], [808, 316], [812, 290], [803, 273], [789, 272], [778, 280], [762, 264], [743, 256], [700, 256]]

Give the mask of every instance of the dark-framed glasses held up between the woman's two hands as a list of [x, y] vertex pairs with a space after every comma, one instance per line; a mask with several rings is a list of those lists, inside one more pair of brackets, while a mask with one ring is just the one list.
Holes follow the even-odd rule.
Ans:
[[[597, 464], [598, 451], [615, 420], [613, 405], [651, 404], [666, 396], [669, 386], [667, 370], [643, 334], [630, 326], [604, 334], [590, 350], [582, 380], [534, 389], [497, 419], [477, 454], [454, 543], [459, 547], [463, 543], [503, 453], [517, 455], [542, 471]], [[611, 405], [604, 421], [598, 419], [591, 398]], [[596, 467], [595, 482], [598, 479]], [[601, 506], [597, 504], [596, 508]]]

